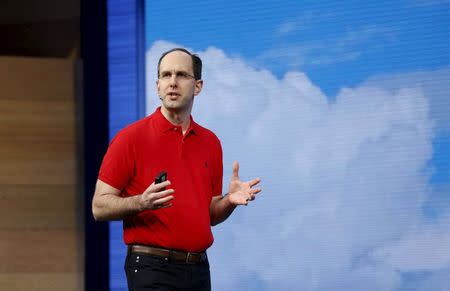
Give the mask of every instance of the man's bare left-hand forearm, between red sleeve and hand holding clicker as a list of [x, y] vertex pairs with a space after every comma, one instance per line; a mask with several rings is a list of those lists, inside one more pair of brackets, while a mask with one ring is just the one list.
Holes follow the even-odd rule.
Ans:
[[92, 213], [95, 220], [123, 220], [140, 211], [138, 196], [120, 197], [105, 194], [92, 201]]

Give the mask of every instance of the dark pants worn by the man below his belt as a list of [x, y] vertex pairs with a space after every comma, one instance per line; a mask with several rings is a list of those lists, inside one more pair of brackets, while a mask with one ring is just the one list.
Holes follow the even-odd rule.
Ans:
[[210, 291], [209, 263], [174, 262], [151, 255], [128, 253], [125, 260], [130, 291]]

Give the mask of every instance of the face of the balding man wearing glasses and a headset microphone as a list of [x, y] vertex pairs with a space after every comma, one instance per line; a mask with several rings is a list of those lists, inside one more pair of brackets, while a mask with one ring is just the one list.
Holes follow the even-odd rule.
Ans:
[[191, 56], [174, 51], [161, 60], [156, 81], [162, 106], [172, 111], [190, 110], [194, 96], [200, 93], [203, 81], [195, 80]]

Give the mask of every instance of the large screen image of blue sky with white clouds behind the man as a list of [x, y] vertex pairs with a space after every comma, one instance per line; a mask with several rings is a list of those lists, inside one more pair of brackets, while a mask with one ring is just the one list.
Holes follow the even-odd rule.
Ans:
[[[351, 3], [350, 3], [351, 2]], [[450, 290], [450, 1], [146, 1], [194, 119], [264, 192], [215, 228], [215, 290]]]

